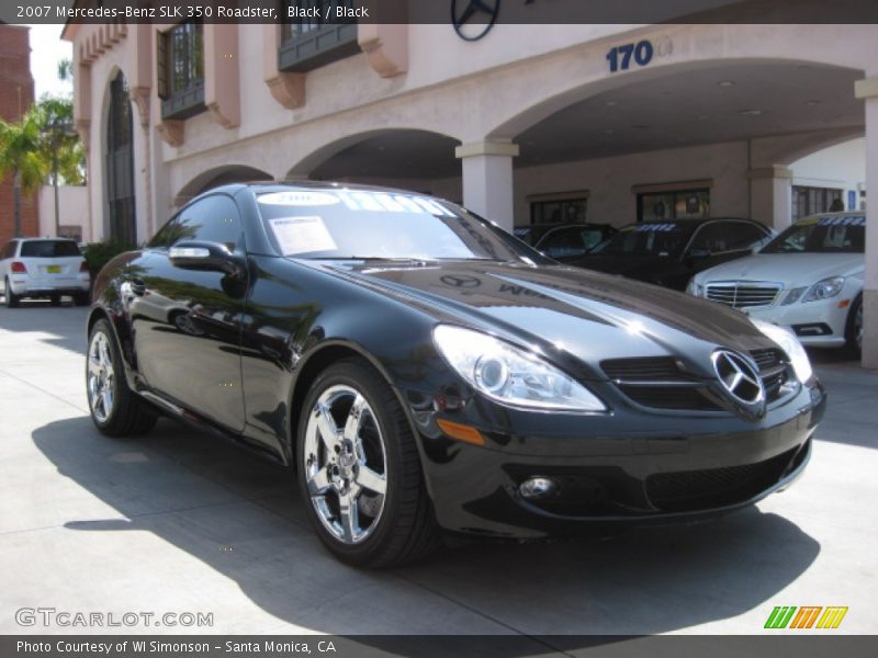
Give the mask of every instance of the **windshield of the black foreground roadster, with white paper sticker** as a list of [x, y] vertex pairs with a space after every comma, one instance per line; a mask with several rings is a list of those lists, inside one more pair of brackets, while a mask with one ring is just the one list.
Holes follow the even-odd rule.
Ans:
[[487, 222], [429, 196], [291, 190], [260, 194], [257, 202], [283, 256], [550, 262]]

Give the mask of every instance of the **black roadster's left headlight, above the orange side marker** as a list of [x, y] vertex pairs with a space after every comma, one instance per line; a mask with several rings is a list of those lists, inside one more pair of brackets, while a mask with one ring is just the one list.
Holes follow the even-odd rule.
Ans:
[[590, 390], [553, 365], [486, 333], [439, 325], [432, 338], [461, 377], [499, 402], [536, 409], [606, 410]]

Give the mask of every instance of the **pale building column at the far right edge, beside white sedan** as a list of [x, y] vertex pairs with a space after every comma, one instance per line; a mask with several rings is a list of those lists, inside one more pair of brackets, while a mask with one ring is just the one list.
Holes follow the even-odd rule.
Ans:
[[[878, 368], [878, 77], [856, 82], [866, 109], [866, 277], [863, 288], [863, 367]], [[870, 198], [875, 196], [875, 198]]]

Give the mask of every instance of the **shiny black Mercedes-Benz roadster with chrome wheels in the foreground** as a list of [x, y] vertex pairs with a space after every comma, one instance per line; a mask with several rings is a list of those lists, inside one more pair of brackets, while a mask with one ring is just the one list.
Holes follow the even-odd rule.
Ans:
[[205, 192], [104, 268], [88, 331], [102, 432], [164, 412], [294, 464], [320, 540], [369, 567], [440, 530], [751, 504], [801, 473], [825, 406], [780, 327], [378, 188]]

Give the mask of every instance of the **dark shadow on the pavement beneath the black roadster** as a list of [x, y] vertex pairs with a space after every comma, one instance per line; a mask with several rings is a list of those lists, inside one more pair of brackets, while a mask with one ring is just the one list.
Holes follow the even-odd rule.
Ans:
[[33, 441], [61, 476], [124, 517], [66, 527], [155, 533], [270, 614], [333, 634], [666, 633], [770, 603], [820, 553], [797, 525], [751, 508], [605, 540], [474, 542], [358, 571], [314, 537], [290, 472], [235, 445], [168, 420], [147, 436], [112, 440], [85, 417], [43, 426]]

